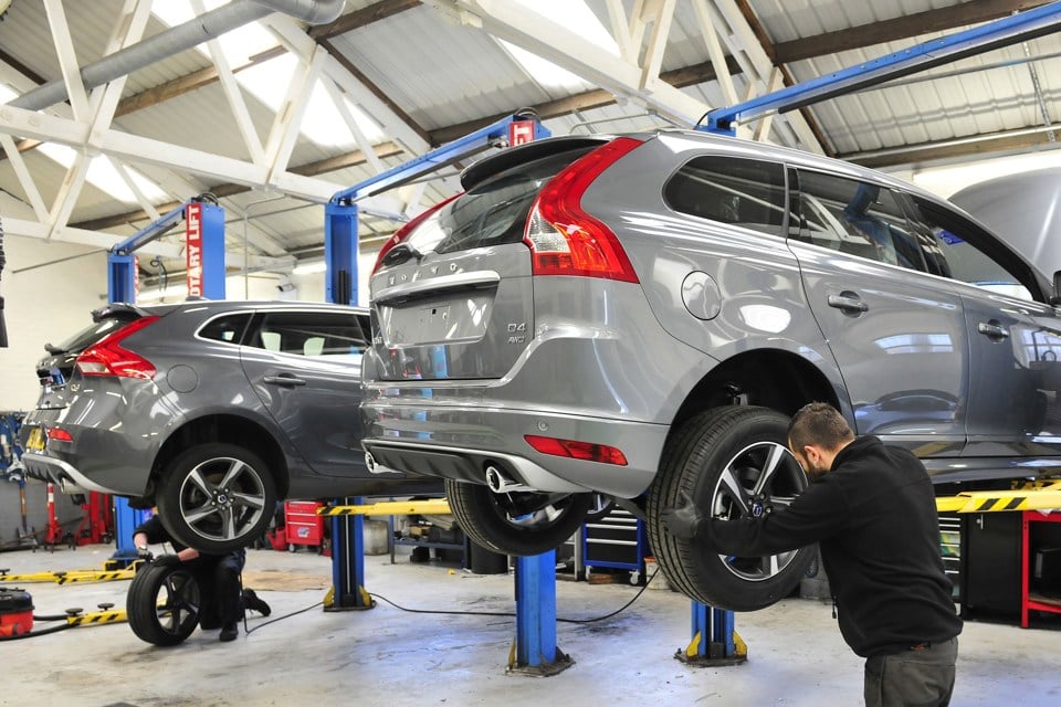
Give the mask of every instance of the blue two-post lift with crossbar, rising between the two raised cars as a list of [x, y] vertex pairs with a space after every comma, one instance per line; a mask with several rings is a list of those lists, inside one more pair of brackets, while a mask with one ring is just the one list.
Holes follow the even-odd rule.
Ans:
[[[328, 302], [357, 303], [357, 201], [400, 187], [424, 175], [466, 159], [489, 147], [518, 145], [551, 134], [537, 116], [516, 114], [448, 143], [405, 165], [386, 170], [336, 192], [325, 207], [325, 295]], [[430, 394], [426, 391], [424, 394]], [[361, 516], [335, 516], [332, 526], [333, 600], [330, 609], [367, 609], [364, 589]], [[570, 664], [556, 648], [556, 555], [547, 552], [516, 562], [516, 644], [518, 666], [559, 672]], [[346, 605], [344, 605], [344, 603]], [[559, 657], [559, 659], [558, 659]]]

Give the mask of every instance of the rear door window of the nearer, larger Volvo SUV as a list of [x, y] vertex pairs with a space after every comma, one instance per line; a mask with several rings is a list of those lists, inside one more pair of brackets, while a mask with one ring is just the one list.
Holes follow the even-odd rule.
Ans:
[[925, 271], [917, 239], [886, 187], [799, 172], [799, 240], [880, 263]]

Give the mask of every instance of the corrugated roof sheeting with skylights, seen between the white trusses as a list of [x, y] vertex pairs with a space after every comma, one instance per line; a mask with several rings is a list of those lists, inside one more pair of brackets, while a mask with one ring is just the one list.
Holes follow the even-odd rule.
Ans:
[[[348, 0], [346, 11], [354, 12], [375, 4], [375, 0]], [[589, 4], [602, 24], [610, 27], [605, 0], [589, 0]], [[761, 23], [770, 42], [776, 44], [820, 41], [820, 35], [828, 32], [855, 31], [863, 25], [948, 8], [956, 2], [746, 0], [746, 4]], [[83, 64], [102, 55], [123, 6], [122, 0], [66, 0], [63, 3], [73, 32], [74, 49]], [[630, 12], [633, 3], [628, 0], [622, 6]], [[162, 29], [160, 22], [151, 19], [146, 35]], [[949, 30], [948, 33], [953, 31], [956, 30]], [[792, 62], [787, 67], [797, 80], [806, 81], [939, 35], [895, 40]], [[593, 91], [593, 86], [584, 81], [560, 87], [547, 83], [540, 75], [530, 75], [494, 38], [474, 27], [452, 22], [431, 3], [405, 10], [329, 41], [379, 92], [408, 114], [417, 128], [426, 131], [443, 130], [524, 106], [549, 104]], [[1023, 62], [1025, 51], [1018, 45], [935, 70], [933, 74], [936, 77], [931, 81], [908, 82], [842, 96], [817, 104], [809, 110], [826, 135], [829, 147], [844, 155], [1027, 128], [1043, 122], [1029, 74], [1029, 66], [1032, 66], [1038, 72], [1043, 99], [1055, 114], [1051, 119], [1061, 119], [1061, 35], [1052, 34], [1029, 42], [1028, 48], [1032, 55], [1040, 57], [1031, 64]], [[17, 0], [12, 3], [6, 21], [0, 23], [0, 50], [45, 78], [60, 75], [41, 2]], [[693, 3], [680, 1], [663, 54], [662, 70], [700, 67], [707, 61], [707, 45]], [[1008, 64], [996, 65], [1001, 62]], [[135, 72], [128, 78], [124, 94], [128, 97], [210, 65], [209, 60], [199, 52], [188, 51]], [[955, 73], [959, 70], [978, 71]], [[8, 71], [0, 65], [0, 80]], [[734, 80], [737, 91], [743, 93], [743, 76], [734, 76]], [[277, 75], [276, 82], [286, 83], [286, 78]], [[714, 81], [686, 86], [682, 91], [711, 107], [724, 103], [719, 86]], [[244, 98], [255, 129], [262, 143], [266, 143], [275, 116], [272, 109], [249, 93], [244, 92]], [[114, 125], [116, 129], [193, 147], [207, 154], [249, 159], [249, 151], [218, 83], [122, 115]], [[637, 101], [624, 101], [550, 117], [546, 125], [554, 134], [565, 135], [644, 130], [663, 127], [668, 123], [647, 114]], [[290, 165], [317, 163], [355, 149], [353, 144], [325, 146], [301, 136]], [[386, 158], [382, 162], [385, 167], [393, 167], [410, 157], [399, 155]], [[25, 155], [25, 159], [36, 176], [44, 199], [51, 205], [65, 170], [32, 151]], [[174, 199], [192, 196], [185, 193], [186, 182], [198, 190], [217, 187], [219, 182], [218, 179], [180, 170], [167, 172], [158, 166], [143, 166], [141, 171], [151, 176]], [[351, 186], [372, 173], [368, 163], [360, 163], [319, 175], [319, 179], [337, 186]], [[0, 161], [0, 188], [21, 197], [21, 187], [8, 160]], [[422, 203], [435, 202], [448, 196], [451, 189], [449, 186], [431, 184], [426, 189]], [[318, 249], [323, 242], [322, 208], [305, 205], [295, 199], [279, 200], [269, 209], [252, 205], [262, 204], [263, 199], [275, 196], [272, 192], [245, 191], [222, 200], [231, 222], [229, 240], [232, 247], [242, 247], [242, 218], [246, 212], [261, 233], [282, 243], [284, 247], [292, 251]], [[137, 209], [136, 204], [118, 203], [99, 190], [86, 187], [71, 220], [87, 221], [135, 212]], [[269, 215], [263, 215], [266, 211]], [[135, 225], [118, 225], [111, 230], [127, 235], [136, 225], [146, 223], [143, 217], [133, 218], [137, 219]], [[369, 239], [374, 230], [388, 232], [395, 225], [384, 219], [366, 217], [363, 219], [361, 235]], [[252, 247], [252, 252], [261, 252], [261, 249]]]

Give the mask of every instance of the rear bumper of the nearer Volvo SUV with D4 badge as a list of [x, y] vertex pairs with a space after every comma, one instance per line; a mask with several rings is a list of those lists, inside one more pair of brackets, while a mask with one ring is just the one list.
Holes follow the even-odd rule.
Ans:
[[[622, 498], [641, 495], [652, 483], [668, 426], [555, 411], [506, 410], [448, 404], [433, 398], [377, 398], [363, 404], [368, 434], [361, 442], [387, 469], [454, 481], [486, 483], [494, 466], [528, 489], [554, 493], [596, 490]], [[417, 402], [412, 402], [416, 400]], [[603, 444], [619, 449], [619, 466], [542, 454], [525, 434]]]

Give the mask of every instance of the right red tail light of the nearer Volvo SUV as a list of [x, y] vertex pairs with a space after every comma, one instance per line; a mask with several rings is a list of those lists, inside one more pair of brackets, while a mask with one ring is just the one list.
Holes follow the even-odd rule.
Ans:
[[581, 198], [595, 179], [640, 145], [630, 137], [616, 138], [568, 165], [542, 189], [530, 207], [524, 233], [535, 275], [638, 282], [619, 239], [582, 211]]

